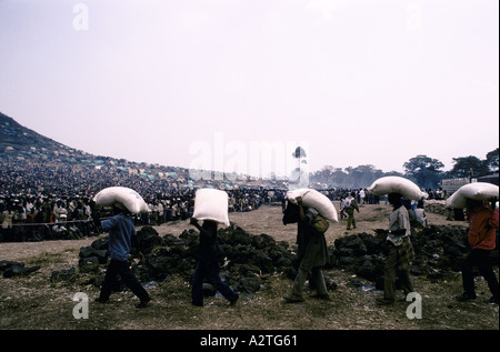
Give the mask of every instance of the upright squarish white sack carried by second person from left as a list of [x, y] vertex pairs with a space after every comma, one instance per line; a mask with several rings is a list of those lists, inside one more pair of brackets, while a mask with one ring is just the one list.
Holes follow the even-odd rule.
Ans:
[[194, 194], [192, 218], [211, 220], [229, 227], [228, 193], [214, 189], [200, 189]]

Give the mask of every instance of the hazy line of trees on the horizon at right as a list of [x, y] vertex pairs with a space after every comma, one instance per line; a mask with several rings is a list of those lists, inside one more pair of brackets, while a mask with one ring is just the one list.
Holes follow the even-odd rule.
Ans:
[[498, 172], [499, 149], [487, 153], [486, 159], [469, 155], [453, 158], [452, 161], [453, 168], [450, 171], [443, 171], [444, 164], [441, 161], [419, 154], [403, 163], [403, 173], [383, 172], [372, 164], [344, 169], [326, 165], [321, 170], [312, 172], [309, 181], [310, 183], [328, 184], [328, 187], [367, 188], [381, 177], [399, 175], [412, 180], [422, 189], [436, 189], [443, 179], [479, 178]]

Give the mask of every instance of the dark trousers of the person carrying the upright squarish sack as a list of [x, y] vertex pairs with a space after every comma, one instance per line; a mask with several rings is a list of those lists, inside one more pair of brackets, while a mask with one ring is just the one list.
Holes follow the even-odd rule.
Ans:
[[198, 260], [192, 278], [192, 303], [203, 305], [203, 279], [207, 279], [228, 301], [238, 299], [236, 293], [220, 279], [217, 259]]

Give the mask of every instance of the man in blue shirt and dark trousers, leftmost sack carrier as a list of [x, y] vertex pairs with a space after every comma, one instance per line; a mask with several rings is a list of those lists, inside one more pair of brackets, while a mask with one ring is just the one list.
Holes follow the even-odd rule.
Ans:
[[102, 230], [109, 231], [108, 250], [111, 261], [97, 301], [101, 303], [109, 301], [117, 275], [120, 275], [123, 283], [139, 298], [140, 303], [137, 308], [144, 308], [151, 298], [136, 279], [128, 263], [132, 240], [137, 241], [136, 227], [128, 211], [113, 205], [113, 214], [114, 217], [101, 221]]

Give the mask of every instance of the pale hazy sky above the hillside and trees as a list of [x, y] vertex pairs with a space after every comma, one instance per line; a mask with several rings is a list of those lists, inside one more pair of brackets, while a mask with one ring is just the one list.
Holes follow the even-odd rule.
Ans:
[[242, 173], [499, 147], [497, 0], [0, 0], [0, 111], [97, 155]]

